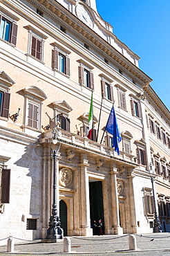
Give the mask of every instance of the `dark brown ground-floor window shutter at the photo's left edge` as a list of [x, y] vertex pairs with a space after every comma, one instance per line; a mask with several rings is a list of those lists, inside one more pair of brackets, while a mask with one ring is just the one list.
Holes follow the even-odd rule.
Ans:
[[2, 169], [1, 203], [10, 203], [10, 169]]

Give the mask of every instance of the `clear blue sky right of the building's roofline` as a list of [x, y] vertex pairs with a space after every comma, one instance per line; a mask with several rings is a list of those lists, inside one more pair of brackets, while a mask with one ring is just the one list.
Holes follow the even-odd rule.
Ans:
[[170, 0], [96, 0], [113, 33], [140, 57], [140, 69], [170, 109]]

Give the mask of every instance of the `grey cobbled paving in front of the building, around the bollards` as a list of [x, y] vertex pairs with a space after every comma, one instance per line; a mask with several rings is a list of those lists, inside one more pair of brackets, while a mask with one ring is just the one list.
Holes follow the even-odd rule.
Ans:
[[[129, 250], [129, 235], [103, 235], [70, 237], [71, 253], [64, 252], [64, 239], [55, 244], [15, 239], [14, 253], [7, 253], [7, 246], [0, 246], [0, 255], [121, 255], [121, 256], [170, 256], [170, 233], [135, 235], [137, 250]], [[7, 243], [7, 240], [6, 240]]]

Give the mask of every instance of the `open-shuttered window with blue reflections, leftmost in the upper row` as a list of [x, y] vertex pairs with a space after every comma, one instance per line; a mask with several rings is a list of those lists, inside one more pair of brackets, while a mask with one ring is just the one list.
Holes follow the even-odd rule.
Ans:
[[0, 38], [16, 46], [18, 26], [15, 24], [14, 19], [16, 21], [19, 19], [10, 13], [9, 15], [12, 19], [10, 17], [6, 18], [0, 15]]

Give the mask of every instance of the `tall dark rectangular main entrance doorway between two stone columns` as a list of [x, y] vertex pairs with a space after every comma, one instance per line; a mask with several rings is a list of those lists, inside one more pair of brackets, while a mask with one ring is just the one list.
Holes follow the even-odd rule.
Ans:
[[102, 195], [102, 181], [95, 181], [89, 183], [90, 194], [90, 210], [91, 223], [102, 219], [104, 232], [104, 210], [103, 210], [103, 195]]

